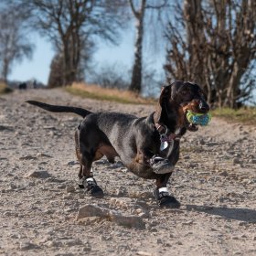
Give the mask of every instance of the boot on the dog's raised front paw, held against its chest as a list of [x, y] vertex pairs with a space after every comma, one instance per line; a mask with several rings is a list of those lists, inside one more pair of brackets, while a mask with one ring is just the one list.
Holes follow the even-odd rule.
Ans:
[[175, 166], [170, 163], [170, 161], [166, 158], [163, 158], [158, 155], [154, 155], [150, 159], [150, 165], [153, 168], [155, 174], [167, 174], [171, 173]]

